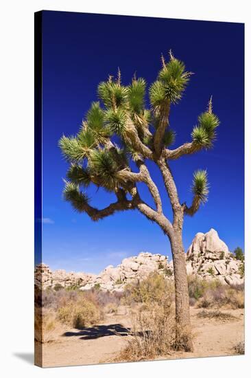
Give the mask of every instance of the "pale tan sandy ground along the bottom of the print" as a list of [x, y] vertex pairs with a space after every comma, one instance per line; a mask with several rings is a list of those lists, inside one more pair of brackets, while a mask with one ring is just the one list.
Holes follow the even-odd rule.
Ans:
[[[173, 353], [165, 359], [234, 355], [233, 347], [244, 340], [244, 310], [222, 310], [237, 319], [219, 322], [200, 319], [201, 309], [191, 308], [195, 334], [193, 353]], [[111, 362], [126, 346], [130, 316], [125, 307], [108, 315], [103, 323], [83, 330], [67, 329], [56, 340], [43, 344], [43, 367]]]

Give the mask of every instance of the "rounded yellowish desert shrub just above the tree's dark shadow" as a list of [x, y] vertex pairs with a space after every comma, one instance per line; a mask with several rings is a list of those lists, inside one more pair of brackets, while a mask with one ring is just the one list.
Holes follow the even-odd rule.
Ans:
[[97, 323], [101, 319], [99, 307], [91, 300], [82, 298], [77, 302], [69, 302], [58, 309], [58, 320], [73, 328], [83, 328]]

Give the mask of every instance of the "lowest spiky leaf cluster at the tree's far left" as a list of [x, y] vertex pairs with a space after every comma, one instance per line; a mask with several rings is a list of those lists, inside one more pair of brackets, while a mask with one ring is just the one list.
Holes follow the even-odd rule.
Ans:
[[84, 207], [88, 204], [88, 197], [80, 191], [79, 186], [73, 182], [65, 181], [63, 196], [65, 201], [69, 201], [77, 212], [84, 212]]

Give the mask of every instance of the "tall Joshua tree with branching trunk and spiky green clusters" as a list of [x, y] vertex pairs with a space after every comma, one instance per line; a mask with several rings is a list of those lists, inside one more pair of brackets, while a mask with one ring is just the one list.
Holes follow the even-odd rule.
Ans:
[[[99, 84], [97, 93], [101, 103], [91, 104], [79, 133], [75, 137], [63, 136], [60, 139], [62, 153], [71, 163], [65, 181], [64, 199], [77, 212], [88, 214], [93, 221], [119, 211], [139, 210], [160, 226], [169, 238], [174, 261], [176, 337], [182, 339], [189, 351], [193, 345], [189, 337], [184, 337], [184, 330], [190, 329], [190, 315], [182, 227], [184, 215], [193, 216], [206, 202], [208, 182], [206, 171], [197, 170], [193, 174], [191, 206], [180, 203], [169, 161], [210, 148], [219, 120], [213, 113], [210, 99], [206, 111], [198, 117], [198, 124], [193, 127], [191, 142], [169, 148], [175, 136], [169, 127], [171, 104], [182, 98], [191, 72], [185, 70], [184, 63], [175, 58], [171, 51], [168, 62], [163, 56], [161, 60], [158, 77], [149, 89], [149, 109], [145, 104], [145, 80], [134, 76], [131, 84], [124, 86], [118, 70], [117, 78], [109, 76], [106, 82]], [[160, 192], [151, 177], [147, 161], [154, 162], [163, 176], [173, 211], [171, 220], [163, 212]], [[133, 169], [133, 166], [137, 168]], [[141, 199], [137, 188], [139, 182], [144, 183], [152, 194], [154, 208]], [[83, 191], [90, 184], [113, 192], [117, 201], [101, 210], [93, 207]]]

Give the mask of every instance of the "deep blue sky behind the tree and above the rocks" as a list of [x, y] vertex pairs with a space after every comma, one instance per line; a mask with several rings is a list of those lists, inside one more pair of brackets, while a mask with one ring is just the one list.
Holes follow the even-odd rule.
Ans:
[[[134, 71], [151, 83], [160, 54], [167, 56], [170, 48], [195, 73], [181, 102], [171, 108], [174, 147], [190, 140], [211, 94], [221, 120], [213, 150], [171, 162], [180, 201], [190, 203], [195, 169], [206, 168], [211, 184], [208, 203], [184, 220], [184, 247], [211, 227], [230, 249], [243, 247], [243, 32], [238, 23], [43, 12], [43, 262], [52, 269], [98, 272], [143, 250], [171, 259], [167, 237], [139, 212], [117, 213], [98, 223], [75, 213], [62, 200], [67, 163], [58, 148], [62, 133], [77, 133], [97, 99], [99, 82], [119, 67], [124, 84]], [[150, 168], [171, 216], [163, 181]], [[140, 190], [148, 200], [147, 190]], [[89, 193], [97, 207], [114, 200], [102, 190]]]

